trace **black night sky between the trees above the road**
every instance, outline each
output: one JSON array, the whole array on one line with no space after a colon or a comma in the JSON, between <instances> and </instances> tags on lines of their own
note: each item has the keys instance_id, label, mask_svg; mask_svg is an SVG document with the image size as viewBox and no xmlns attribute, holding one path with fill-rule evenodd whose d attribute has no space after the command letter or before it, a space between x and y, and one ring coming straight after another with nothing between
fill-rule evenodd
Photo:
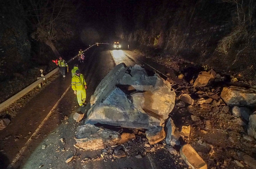
<instances>
[{"instance_id":1,"label":"black night sky between the trees above the road","mask_svg":"<svg viewBox=\"0 0 256 169\"><path fill-rule=\"evenodd\" d=\"M73 4L76 7L76 17L73 22L78 25L76 28L82 27L76 30L80 36L83 37L85 33L94 31L98 33L102 42L108 42L117 39L115 30L118 23L128 30L132 29L133 8L138 1L75 1Z\"/></svg>"}]
</instances>

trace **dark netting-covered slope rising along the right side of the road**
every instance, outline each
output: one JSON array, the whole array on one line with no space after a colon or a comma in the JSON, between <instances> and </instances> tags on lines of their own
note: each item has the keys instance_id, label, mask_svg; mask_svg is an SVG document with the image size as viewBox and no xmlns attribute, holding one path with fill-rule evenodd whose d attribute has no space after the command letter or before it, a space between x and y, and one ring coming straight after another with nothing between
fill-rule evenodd
<instances>
[{"instance_id":1,"label":"dark netting-covered slope rising along the right side of the road","mask_svg":"<svg viewBox=\"0 0 256 169\"><path fill-rule=\"evenodd\" d=\"M255 6L255 0L142 2L128 39L256 85Z\"/></svg>"}]
</instances>

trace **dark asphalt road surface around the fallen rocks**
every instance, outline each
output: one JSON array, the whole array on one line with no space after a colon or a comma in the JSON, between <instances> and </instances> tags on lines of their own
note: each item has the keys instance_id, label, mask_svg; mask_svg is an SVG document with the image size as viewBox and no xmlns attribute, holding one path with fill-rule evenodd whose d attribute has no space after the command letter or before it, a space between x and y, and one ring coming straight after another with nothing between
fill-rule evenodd
<instances>
[{"instance_id":1,"label":"dark asphalt road surface around the fallen rocks","mask_svg":"<svg viewBox=\"0 0 256 169\"><path fill-rule=\"evenodd\" d=\"M172 70L150 63L145 58L128 50L113 50L107 46L99 46L86 51L85 63L79 64L82 74L87 81L87 99L95 91L97 85L106 74L119 63L127 66L143 64L154 70L162 77ZM69 64L69 67L77 62ZM148 63L148 65L147 65ZM156 69L157 68L157 69ZM86 164L81 163L84 158L100 156L101 150L84 151L76 149L75 131L82 122L75 122L73 114L77 111L85 112L89 104L80 108L73 90L71 89L71 72L66 79L61 75L49 86L38 93L16 115L5 129L0 131L1 168L180 168L166 150L147 154L142 159L135 157L116 159L115 161L99 160ZM61 138L64 142L61 142ZM45 145L45 149L42 147ZM76 155L73 162L66 164L68 157Z\"/></svg>"}]
</instances>

